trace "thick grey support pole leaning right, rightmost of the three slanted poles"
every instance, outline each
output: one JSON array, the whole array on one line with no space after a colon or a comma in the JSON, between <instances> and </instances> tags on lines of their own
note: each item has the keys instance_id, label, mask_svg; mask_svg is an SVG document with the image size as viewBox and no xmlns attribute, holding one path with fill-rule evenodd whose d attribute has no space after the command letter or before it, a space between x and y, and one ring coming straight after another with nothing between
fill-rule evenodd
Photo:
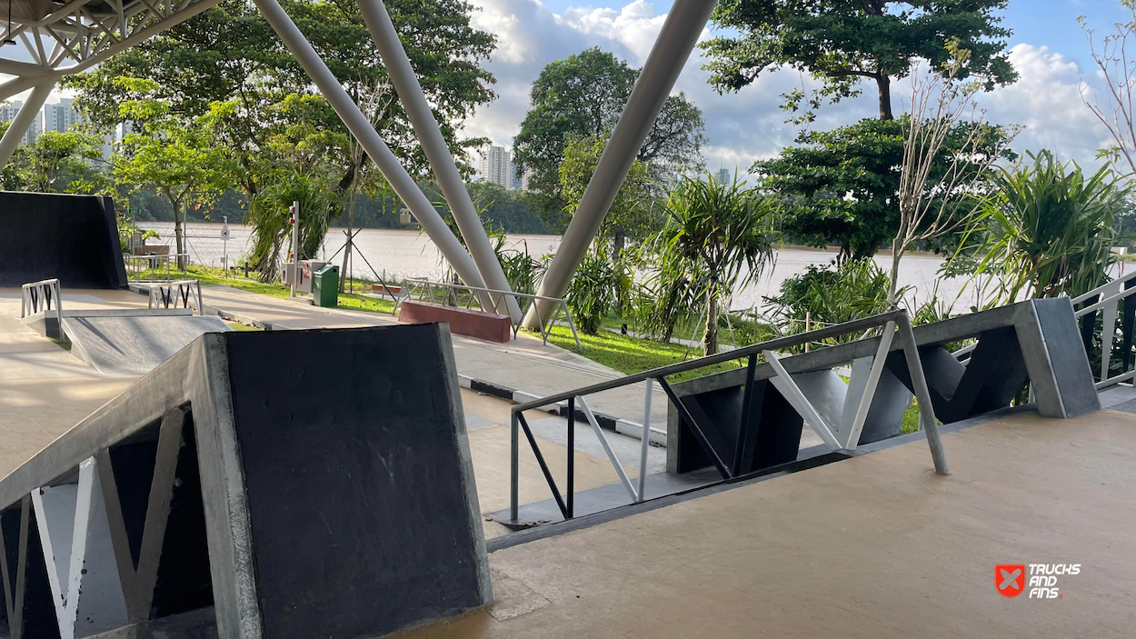
<instances>
[{"instance_id":1,"label":"thick grey support pole leaning right, rightmost of the three slanted poles","mask_svg":"<svg viewBox=\"0 0 1136 639\"><path fill-rule=\"evenodd\" d=\"M662 31L643 65L643 73L635 81L632 97L603 149L579 207L573 214L560 248L541 281L538 294L562 298L568 291L568 284L584 260L587 247L600 231L640 147L654 126L659 111L717 3L717 0L675 0L671 5ZM537 307L541 315L552 317L552 305L548 300L534 300L525 315L525 326L540 327Z\"/></svg>"}]
</instances>

